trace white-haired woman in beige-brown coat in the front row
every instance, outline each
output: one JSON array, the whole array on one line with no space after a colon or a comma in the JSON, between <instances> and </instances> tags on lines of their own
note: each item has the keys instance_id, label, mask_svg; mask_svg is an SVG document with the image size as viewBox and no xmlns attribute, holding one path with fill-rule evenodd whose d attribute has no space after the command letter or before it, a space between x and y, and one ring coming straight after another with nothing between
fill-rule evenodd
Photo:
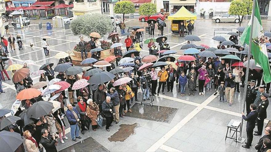
<instances>
[{"instance_id":1,"label":"white-haired woman in beige-brown coat in the front row","mask_svg":"<svg viewBox=\"0 0 271 152\"><path fill-rule=\"evenodd\" d=\"M99 107L93 102L92 99L87 100L87 116L91 119L92 130L96 131L98 125L96 122L97 116L99 115Z\"/></svg>"}]
</instances>

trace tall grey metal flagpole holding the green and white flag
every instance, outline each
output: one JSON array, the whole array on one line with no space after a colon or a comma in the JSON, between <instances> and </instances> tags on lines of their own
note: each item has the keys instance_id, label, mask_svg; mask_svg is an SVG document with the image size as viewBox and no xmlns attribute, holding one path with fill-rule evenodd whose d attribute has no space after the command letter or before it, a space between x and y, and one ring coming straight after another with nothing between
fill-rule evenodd
<instances>
[{"instance_id":1,"label":"tall grey metal flagpole holding the green and white flag","mask_svg":"<svg viewBox=\"0 0 271 152\"><path fill-rule=\"evenodd\" d=\"M246 67L246 75L245 75L245 88L244 88L244 95L243 95L243 112L245 113L245 98L247 95L247 88L248 88L248 80L249 80L249 62L250 62L250 53L251 53L251 43L252 43L252 34L253 34L253 25L254 25L254 16L255 16L255 5L256 0L253 0L253 6L252 6L252 14L251 14L251 28L250 28L250 34L249 34L249 52L248 52L248 63ZM259 83L259 82L258 82ZM245 141L245 138L242 138L242 129L243 129L243 122L244 119L242 117L241 126L240 126L240 137L238 138L238 142L243 143Z\"/></svg>"}]
</instances>

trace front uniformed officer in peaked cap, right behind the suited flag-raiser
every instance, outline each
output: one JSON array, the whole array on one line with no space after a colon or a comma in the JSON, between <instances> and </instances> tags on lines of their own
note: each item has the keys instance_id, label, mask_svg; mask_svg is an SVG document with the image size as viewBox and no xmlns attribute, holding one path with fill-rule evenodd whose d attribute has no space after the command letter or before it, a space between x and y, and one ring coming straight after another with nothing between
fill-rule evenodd
<instances>
[{"instance_id":1,"label":"front uniformed officer in peaked cap, right behind the suited flag-raiser","mask_svg":"<svg viewBox=\"0 0 271 152\"><path fill-rule=\"evenodd\" d=\"M258 108L257 108L257 111L259 112L258 119L257 119L258 131L255 131L255 133L254 133L255 136L259 136L262 133L263 126L264 126L264 120L267 117L266 109L269 104L268 97L269 97L269 94L267 94L267 93L261 94L261 102L259 103Z\"/></svg>"}]
</instances>

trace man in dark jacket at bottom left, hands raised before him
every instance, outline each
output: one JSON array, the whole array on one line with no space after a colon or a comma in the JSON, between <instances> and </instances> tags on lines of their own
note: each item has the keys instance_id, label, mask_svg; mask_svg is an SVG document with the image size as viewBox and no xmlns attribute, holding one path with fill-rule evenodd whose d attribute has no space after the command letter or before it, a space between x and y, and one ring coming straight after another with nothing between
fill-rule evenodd
<instances>
[{"instance_id":1,"label":"man in dark jacket at bottom left, hands raised before him","mask_svg":"<svg viewBox=\"0 0 271 152\"><path fill-rule=\"evenodd\" d=\"M48 152L49 151L50 152L57 152L56 147L55 147L57 134L53 134L52 137L48 136L49 133L48 133L47 129L42 129L41 134L42 134L42 137L41 137L40 143L45 148L45 150Z\"/></svg>"}]
</instances>

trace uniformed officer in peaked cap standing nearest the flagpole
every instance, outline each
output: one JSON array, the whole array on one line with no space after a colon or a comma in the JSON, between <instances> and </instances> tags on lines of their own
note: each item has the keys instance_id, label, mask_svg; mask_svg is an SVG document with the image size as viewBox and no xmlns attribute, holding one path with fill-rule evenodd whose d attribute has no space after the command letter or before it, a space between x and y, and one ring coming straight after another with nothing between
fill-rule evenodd
<instances>
[{"instance_id":1,"label":"uniformed officer in peaked cap standing nearest the flagpole","mask_svg":"<svg viewBox=\"0 0 271 152\"><path fill-rule=\"evenodd\" d=\"M247 89L247 95L246 95L246 111L247 111L247 115L250 112L250 104L254 102L254 100L256 99L256 93L253 93L254 89L255 89L255 80L251 80L250 81L250 86L248 86Z\"/></svg>"}]
</instances>

